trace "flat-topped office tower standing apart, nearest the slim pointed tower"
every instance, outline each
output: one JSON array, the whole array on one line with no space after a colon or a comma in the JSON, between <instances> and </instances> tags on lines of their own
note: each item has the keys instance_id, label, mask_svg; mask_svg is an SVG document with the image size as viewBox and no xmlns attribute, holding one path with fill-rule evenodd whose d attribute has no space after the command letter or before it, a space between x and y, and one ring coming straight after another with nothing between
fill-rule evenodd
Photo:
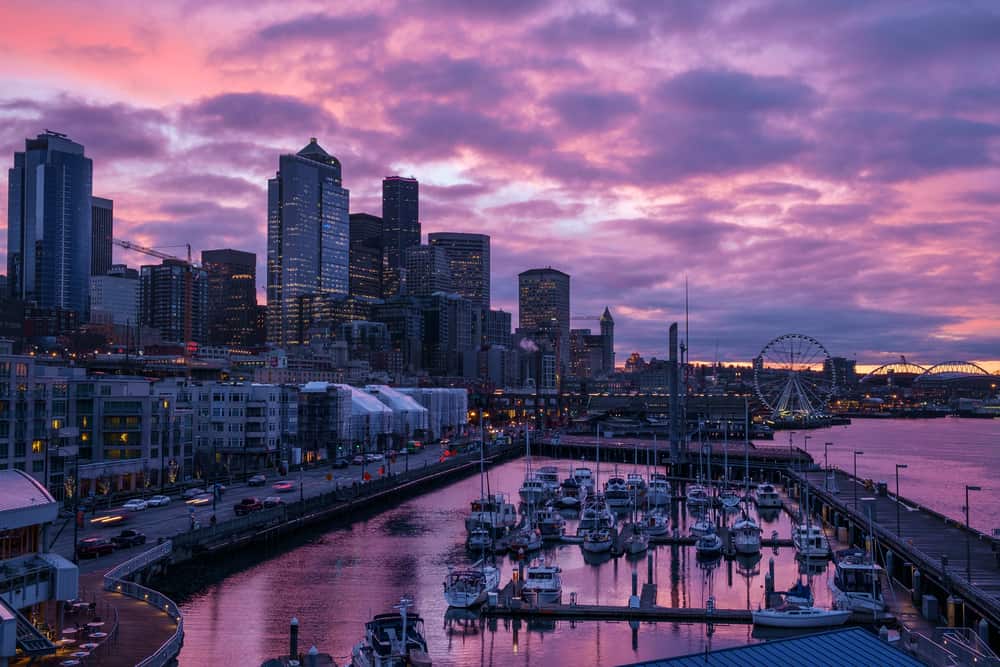
<instances>
[{"instance_id":1,"label":"flat-topped office tower standing apart, nearest the slim pointed tower","mask_svg":"<svg viewBox=\"0 0 1000 667\"><path fill-rule=\"evenodd\" d=\"M548 338L563 368L569 365L569 275L529 269L517 276L518 326L529 336Z\"/></svg>"}]
</instances>

